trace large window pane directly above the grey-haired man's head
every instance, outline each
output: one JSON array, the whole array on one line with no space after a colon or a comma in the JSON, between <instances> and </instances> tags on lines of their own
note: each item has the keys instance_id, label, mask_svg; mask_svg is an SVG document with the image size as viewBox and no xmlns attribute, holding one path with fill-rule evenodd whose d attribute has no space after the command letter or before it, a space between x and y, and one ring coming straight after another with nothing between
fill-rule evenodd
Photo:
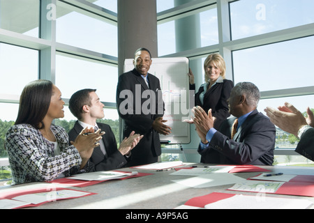
<instances>
[{"instance_id":1,"label":"large window pane directly above the grey-haired man's head","mask_svg":"<svg viewBox=\"0 0 314 223\"><path fill-rule=\"evenodd\" d=\"M233 52L234 84L253 82L260 91L314 86L314 37Z\"/></svg>"}]
</instances>

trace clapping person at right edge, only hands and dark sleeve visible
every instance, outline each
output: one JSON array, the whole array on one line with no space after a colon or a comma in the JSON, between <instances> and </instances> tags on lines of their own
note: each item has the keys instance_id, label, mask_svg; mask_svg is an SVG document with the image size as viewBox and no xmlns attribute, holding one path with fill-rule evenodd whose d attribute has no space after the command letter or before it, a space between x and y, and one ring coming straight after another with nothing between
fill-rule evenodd
<instances>
[{"instance_id":1,"label":"clapping person at right edge, only hands and dark sleeve visible","mask_svg":"<svg viewBox=\"0 0 314 223\"><path fill-rule=\"evenodd\" d=\"M314 161L314 115L311 109L308 107L306 111L307 118L287 102L284 106L278 107L278 110L267 107L264 111L272 123L285 132L299 137L300 141L295 151Z\"/></svg>"}]
</instances>

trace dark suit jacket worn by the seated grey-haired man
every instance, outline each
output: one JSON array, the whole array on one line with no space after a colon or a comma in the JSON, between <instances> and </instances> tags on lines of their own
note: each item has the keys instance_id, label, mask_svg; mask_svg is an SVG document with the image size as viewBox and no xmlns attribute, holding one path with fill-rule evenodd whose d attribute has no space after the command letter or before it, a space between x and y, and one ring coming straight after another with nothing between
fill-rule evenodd
<instances>
[{"instance_id":1,"label":"dark suit jacket worn by the seated grey-haired man","mask_svg":"<svg viewBox=\"0 0 314 223\"><path fill-rule=\"evenodd\" d=\"M276 128L267 116L254 110L231 137L235 118L225 120L209 142L209 148L198 149L201 162L214 164L272 165Z\"/></svg>"}]
</instances>

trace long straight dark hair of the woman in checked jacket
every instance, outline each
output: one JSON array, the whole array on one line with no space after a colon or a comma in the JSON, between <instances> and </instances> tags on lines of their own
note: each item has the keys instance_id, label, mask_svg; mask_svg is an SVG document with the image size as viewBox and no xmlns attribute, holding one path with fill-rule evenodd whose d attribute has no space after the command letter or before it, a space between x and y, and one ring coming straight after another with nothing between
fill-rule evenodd
<instances>
[{"instance_id":1,"label":"long straight dark hair of the woman in checked jacket","mask_svg":"<svg viewBox=\"0 0 314 223\"><path fill-rule=\"evenodd\" d=\"M24 86L15 125L24 123L38 130L43 129L43 118L48 112L51 97L52 82L46 79L38 79Z\"/></svg>"}]
</instances>

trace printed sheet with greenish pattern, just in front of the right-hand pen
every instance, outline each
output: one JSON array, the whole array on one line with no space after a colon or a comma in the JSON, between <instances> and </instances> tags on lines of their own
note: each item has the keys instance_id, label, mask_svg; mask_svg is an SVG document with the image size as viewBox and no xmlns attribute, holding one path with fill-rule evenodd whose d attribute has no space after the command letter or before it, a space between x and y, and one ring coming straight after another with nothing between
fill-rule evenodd
<instances>
[{"instance_id":1,"label":"printed sheet with greenish pattern, just in front of the right-hand pen","mask_svg":"<svg viewBox=\"0 0 314 223\"><path fill-rule=\"evenodd\" d=\"M245 180L229 188L229 190L239 190L247 192L276 193L285 182Z\"/></svg>"}]
</instances>

